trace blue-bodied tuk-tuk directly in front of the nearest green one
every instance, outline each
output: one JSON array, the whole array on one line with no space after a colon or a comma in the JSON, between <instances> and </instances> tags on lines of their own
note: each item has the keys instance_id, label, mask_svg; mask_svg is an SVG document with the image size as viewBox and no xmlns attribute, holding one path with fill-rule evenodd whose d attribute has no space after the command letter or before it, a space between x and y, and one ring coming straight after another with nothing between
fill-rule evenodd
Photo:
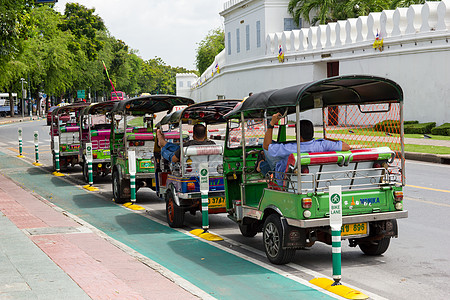
<instances>
[{"instance_id":1,"label":"blue-bodied tuk-tuk directly in front of the nearest green one","mask_svg":"<svg viewBox=\"0 0 450 300\"><path fill-rule=\"evenodd\" d=\"M226 124L224 115L238 103L240 100L196 103L167 115L157 125L161 129L166 125L164 132L166 139L175 138L180 143L179 162L168 162L161 157L157 170L157 191L160 197L166 200L166 217L170 227L182 227L185 212L194 215L202 210L200 190L202 164L208 165L208 212L211 214L226 212L222 159ZM185 139L179 137L192 132L196 124L207 126L207 138L214 144L184 146ZM174 134L176 128L179 131Z\"/></svg>"}]
</instances>

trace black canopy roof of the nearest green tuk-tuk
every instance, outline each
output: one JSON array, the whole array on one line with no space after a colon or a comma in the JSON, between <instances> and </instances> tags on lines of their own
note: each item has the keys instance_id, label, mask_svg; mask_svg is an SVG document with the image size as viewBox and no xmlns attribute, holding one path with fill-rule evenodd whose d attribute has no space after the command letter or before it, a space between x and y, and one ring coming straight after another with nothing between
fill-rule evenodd
<instances>
[{"instance_id":1,"label":"black canopy roof of the nearest green tuk-tuk","mask_svg":"<svg viewBox=\"0 0 450 300\"><path fill-rule=\"evenodd\" d=\"M300 111L305 111L334 105L400 101L403 101L403 91L392 80L369 75L345 75L254 94L226 118L239 117L241 112L246 117L263 117L266 109L268 116L284 113L286 108L291 114L295 113L298 103Z\"/></svg>"}]
</instances>

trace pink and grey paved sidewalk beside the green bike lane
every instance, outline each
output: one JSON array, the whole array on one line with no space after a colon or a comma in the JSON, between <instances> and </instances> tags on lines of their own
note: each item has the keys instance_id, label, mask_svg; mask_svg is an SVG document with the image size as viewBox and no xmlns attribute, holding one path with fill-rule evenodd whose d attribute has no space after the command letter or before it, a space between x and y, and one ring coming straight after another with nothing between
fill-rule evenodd
<instances>
[{"instance_id":1,"label":"pink and grey paved sidewalk beside the green bike lane","mask_svg":"<svg viewBox=\"0 0 450 300\"><path fill-rule=\"evenodd\" d=\"M0 299L198 299L3 175L0 226Z\"/></svg>"}]
</instances>

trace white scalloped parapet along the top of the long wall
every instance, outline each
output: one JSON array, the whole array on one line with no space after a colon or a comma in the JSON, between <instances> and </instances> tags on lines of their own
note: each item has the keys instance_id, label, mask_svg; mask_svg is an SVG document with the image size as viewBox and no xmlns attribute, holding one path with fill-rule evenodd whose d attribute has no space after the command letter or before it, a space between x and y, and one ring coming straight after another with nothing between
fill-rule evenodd
<instances>
[{"instance_id":1,"label":"white scalloped parapet along the top of the long wall","mask_svg":"<svg viewBox=\"0 0 450 300\"><path fill-rule=\"evenodd\" d=\"M246 0L229 0L224 9ZM450 29L450 0L425 2L407 8L384 10L369 13L348 20L312 26L300 30L272 32L266 35L265 55L278 55L281 46L285 55L306 53L311 51L331 50L333 48L360 46L364 42L373 43L379 34L384 43L389 38L411 39L411 35L442 34ZM415 38L415 36L414 36ZM387 40L386 40L387 39ZM225 66L225 51L216 57L220 66ZM214 72L216 62L200 77L206 81ZM198 86L198 85L197 85Z\"/></svg>"}]
</instances>

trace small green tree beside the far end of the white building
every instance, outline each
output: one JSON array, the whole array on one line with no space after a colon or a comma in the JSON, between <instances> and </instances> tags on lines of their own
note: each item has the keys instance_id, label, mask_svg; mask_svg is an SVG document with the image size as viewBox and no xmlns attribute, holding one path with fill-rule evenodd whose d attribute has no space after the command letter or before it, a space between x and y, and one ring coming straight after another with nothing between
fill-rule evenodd
<instances>
[{"instance_id":1,"label":"small green tree beside the far end of the white building","mask_svg":"<svg viewBox=\"0 0 450 300\"><path fill-rule=\"evenodd\" d=\"M211 30L208 35L198 43L196 67L200 74L214 62L217 54L225 48L225 34L222 29Z\"/></svg>"}]
</instances>

